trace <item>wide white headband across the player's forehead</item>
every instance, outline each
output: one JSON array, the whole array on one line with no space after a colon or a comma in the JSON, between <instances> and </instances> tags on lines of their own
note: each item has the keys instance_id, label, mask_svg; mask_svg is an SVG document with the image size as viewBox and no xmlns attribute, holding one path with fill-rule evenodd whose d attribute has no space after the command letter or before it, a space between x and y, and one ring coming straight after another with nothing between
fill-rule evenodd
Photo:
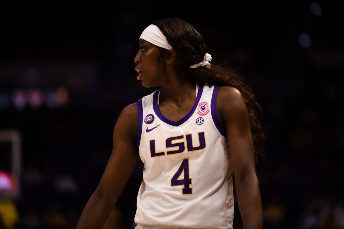
<instances>
[{"instance_id":1,"label":"wide white headband across the player's forehead","mask_svg":"<svg viewBox=\"0 0 344 229\"><path fill-rule=\"evenodd\" d=\"M158 26L149 25L143 30L139 39L144 39L156 46L171 50L172 46L168 43L165 35L161 32Z\"/></svg>"}]
</instances>

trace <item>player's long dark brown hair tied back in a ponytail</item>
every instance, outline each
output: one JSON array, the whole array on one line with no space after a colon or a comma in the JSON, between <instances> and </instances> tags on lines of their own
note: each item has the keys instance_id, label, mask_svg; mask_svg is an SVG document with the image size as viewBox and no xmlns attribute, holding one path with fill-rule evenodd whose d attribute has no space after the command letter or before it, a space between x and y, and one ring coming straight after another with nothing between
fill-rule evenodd
<instances>
[{"instance_id":1,"label":"player's long dark brown hair tied back in a ponytail","mask_svg":"<svg viewBox=\"0 0 344 229\"><path fill-rule=\"evenodd\" d=\"M152 22L152 24L160 28L177 55L183 54L178 55L176 60L178 61L179 67L185 69L189 76L197 81L207 82L208 84L234 87L243 95L248 110L251 135L254 144L255 165L257 168L260 159L265 159L265 135L260 122L262 108L258 104L250 87L245 84L243 76L241 76L237 70L229 67L226 63L212 63L210 68L202 66L193 69L189 68L189 66L203 61L205 53L208 52L204 38L189 22L175 17L160 19ZM158 61L160 62L163 60L168 50L161 47L158 48L160 49L158 56Z\"/></svg>"}]
</instances>

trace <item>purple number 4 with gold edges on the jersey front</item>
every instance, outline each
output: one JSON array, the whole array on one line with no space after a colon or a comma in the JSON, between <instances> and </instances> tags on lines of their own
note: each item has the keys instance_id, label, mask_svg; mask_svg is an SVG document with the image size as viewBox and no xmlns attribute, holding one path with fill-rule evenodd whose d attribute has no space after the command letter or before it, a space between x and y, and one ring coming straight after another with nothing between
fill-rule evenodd
<instances>
[{"instance_id":1,"label":"purple number 4 with gold edges on the jersey front","mask_svg":"<svg viewBox=\"0 0 344 229\"><path fill-rule=\"evenodd\" d=\"M184 171L184 179L179 179ZM190 185L192 184L191 178L189 178L189 158L184 159L182 164L180 165L178 171L173 175L171 179L171 186L179 186L184 185L182 188L183 195L192 194L192 188Z\"/></svg>"}]
</instances>

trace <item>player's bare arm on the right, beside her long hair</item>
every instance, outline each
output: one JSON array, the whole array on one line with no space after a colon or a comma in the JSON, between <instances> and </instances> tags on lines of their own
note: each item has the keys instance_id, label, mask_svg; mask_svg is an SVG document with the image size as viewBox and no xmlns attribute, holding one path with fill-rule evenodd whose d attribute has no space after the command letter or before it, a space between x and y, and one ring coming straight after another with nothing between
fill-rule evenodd
<instances>
[{"instance_id":1,"label":"player's bare arm on the right, beside her long hair","mask_svg":"<svg viewBox=\"0 0 344 229\"><path fill-rule=\"evenodd\" d=\"M239 210L244 228L260 229L263 224L262 205L255 170L254 145L245 100L236 88L221 86L216 102L219 104L219 116L226 128Z\"/></svg>"}]
</instances>

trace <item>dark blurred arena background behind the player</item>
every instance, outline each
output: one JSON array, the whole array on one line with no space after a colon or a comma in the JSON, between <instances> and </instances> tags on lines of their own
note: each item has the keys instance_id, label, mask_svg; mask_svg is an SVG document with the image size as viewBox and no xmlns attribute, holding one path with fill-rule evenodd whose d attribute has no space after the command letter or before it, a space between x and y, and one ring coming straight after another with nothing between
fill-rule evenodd
<instances>
[{"instance_id":1,"label":"dark blurred arena background behind the player","mask_svg":"<svg viewBox=\"0 0 344 229\"><path fill-rule=\"evenodd\" d=\"M136 79L139 36L173 16L205 37L212 63L239 69L264 110L264 228L344 228L343 10L339 1L3 6L0 228L76 227L119 113L158 89ZM138 161L103 228L134 227L141 180ZM234 219L243 228L238 206Z\"/></svg>"}]
</instances>

